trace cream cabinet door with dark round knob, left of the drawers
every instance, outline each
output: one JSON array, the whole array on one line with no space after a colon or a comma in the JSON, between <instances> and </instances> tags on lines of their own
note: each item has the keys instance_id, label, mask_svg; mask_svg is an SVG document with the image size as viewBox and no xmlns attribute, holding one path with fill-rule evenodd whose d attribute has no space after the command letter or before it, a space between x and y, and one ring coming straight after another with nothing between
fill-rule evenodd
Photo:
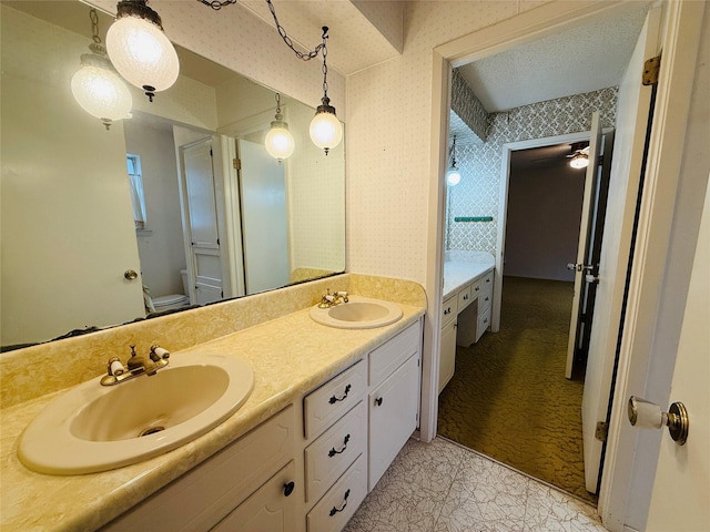
<instances>
[{"instance_id":1,"label":"cream cabinet door with dark round knob, left of the drawers","mask_svg":"<svg viewBox=\"0 0 710 532\"><path fill-rule=\"evenodd\" d=\"M295 477L296 467L290 462L211 532L295 532L297 500L303 497Z\"/></svg>"}]
</instances>

